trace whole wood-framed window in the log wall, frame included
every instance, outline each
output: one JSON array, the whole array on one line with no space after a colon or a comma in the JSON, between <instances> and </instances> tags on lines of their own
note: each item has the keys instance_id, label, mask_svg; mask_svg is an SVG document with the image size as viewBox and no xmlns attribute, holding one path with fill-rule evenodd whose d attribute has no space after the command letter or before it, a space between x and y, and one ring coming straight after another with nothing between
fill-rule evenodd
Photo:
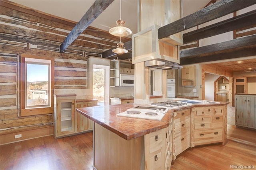
<instances>
[{"instance_id":1,"label":"whole wood-framed window in the log wall, frame included","mask_svg":"<svg viewBox=\"0 0 256 170\"><path fill-rule=\"evenodd\" d=\"M53 113L54 58L20 57L20 115Z\"/></svg>"}]
</instances>

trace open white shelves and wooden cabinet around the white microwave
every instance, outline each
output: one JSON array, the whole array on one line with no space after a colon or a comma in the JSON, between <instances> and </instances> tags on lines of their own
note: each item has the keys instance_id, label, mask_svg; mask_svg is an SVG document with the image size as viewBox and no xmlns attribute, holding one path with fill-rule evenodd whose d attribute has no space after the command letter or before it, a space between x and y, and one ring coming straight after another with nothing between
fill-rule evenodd
<instances>
[{"instance_id":1,"label":"open white shelves and wooden cabinet around the white microwave","mask_svg":"<svg viewBox=\"0 0 256 170\"><path fill-rule=\"evenodd\" d=\"M110 61L110 86L120 86L120 74L134 75L134 64L126 60L113 59Z\"/></svg>"}]
</instances>

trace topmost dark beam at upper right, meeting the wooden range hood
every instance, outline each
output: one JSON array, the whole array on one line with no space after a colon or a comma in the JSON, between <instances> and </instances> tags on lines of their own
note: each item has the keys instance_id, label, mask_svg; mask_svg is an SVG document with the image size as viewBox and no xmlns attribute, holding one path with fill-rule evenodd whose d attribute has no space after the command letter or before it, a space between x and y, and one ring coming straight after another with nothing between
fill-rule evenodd
<instances>
[{"instance_id":1,"label":"topmost dark beam at upper right, meeting the wooden range hood","mask_svg":"<svg viewBox=\"0 0 256 170\"><path fill-rule=\"evenodd\" d=\"M221 0L180 20L162 26L158 30L158 38L166 38L254 4L256 4L256 0Z\"/></svg>"}]
</instances>

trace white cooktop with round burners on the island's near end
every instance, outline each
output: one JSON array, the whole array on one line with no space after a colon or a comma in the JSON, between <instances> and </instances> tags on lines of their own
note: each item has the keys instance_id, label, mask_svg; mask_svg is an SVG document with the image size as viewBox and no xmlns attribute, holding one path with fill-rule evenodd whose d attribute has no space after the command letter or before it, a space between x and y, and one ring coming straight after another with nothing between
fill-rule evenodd
<instances>
[{"instance_id":1,"label":"white cooktop with round burners on the island's near end","mask_svg":"<svg viewBox=\"0 0 256 170\"><path fill-rule=\"evenodd\" d=\"M161 121L167 111L168 108L138 106L127 109L125 112L118 113L117 116Z\"/></svg>"}]
</instances>

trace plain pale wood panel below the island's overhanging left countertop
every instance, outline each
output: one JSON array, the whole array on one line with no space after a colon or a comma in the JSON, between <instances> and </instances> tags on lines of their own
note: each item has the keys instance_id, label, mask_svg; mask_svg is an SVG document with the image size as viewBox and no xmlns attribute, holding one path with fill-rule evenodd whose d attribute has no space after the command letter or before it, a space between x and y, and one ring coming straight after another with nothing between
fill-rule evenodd
<instances>
[{"instance_id":1,"label":"plain pale wood panel below the island's overhanging left countertop","mask_svg":"<svg viewBox=\"0 0 256 170\"><path fill-rule=\"evenodd\" d=\"M144 137L125 140L117 134L94 123L94 169L140 170L144 164Z\"/></svg>"}]
</instances>

